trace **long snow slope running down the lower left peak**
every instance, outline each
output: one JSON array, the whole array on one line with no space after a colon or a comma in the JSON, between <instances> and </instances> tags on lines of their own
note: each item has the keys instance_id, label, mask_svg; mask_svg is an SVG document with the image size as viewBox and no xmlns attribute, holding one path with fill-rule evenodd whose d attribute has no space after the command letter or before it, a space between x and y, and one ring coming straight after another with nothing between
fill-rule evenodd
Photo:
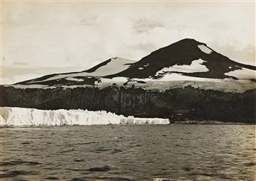
<instances>
[{"instance_id":1,"label":"long snow slope running down the lower left peak","mask_svg":"<svg viewBox=\"0 0 256 181\"><path fill-rule=\"evenodd\" d=\"M134 63L136 61L130 60L130 59L122 59L119 57L112 58L110 62L108 62L107 65L102 65L102 67L97 68L95 71L88 73L88 72L78 72L78 73L65 73L65 74L59 74L56 76L52 76L48 79L42 80L42 81L33 81L30 83L37 83L37 82L46 82L50 80L56 80L56 79L64 79L64 78L71 78L76 76L109 76L115 73L119 73L127 68L129 68L131 63Z\"/></svg>"}]
</instances>

